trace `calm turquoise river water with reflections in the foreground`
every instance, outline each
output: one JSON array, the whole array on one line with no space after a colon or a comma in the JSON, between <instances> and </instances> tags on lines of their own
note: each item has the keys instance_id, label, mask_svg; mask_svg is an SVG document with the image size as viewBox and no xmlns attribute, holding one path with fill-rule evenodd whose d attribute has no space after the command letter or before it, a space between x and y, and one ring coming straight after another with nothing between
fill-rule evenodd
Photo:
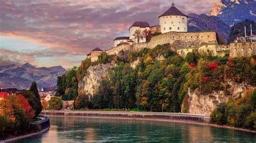
<instances>
[{"instance_id":1,"label":"calm turquoise river water with reflections in the foreground","mask_svg":"<svg viewBox=\"0 0 256 143\"><path fill-rule=\"evenodd\" d=\"M255 142L256 134L207 125L132 119L50 117L50 130L16 142Z\"/></svg>"}]
</instances>

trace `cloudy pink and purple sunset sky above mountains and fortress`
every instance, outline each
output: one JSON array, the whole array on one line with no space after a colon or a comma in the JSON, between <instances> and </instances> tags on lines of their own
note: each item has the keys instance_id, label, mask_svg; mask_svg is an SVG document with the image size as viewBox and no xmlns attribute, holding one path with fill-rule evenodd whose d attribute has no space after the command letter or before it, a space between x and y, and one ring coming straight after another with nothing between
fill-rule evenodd
<instances>
[{"instance_id":1,"label":"cloudy pink and purple sunset sky above mountains and fortress","mask_svg":"<svg viewBox=\"0 0 256 143\"><path fill-rule=\"evenodd\" d=\"M219 0L173 0L188 13L208 13ZM80 65L93 48L109 49L136 21L158 25L170 0L1 0L0 65Z\"/></svg>"}]
</instances>

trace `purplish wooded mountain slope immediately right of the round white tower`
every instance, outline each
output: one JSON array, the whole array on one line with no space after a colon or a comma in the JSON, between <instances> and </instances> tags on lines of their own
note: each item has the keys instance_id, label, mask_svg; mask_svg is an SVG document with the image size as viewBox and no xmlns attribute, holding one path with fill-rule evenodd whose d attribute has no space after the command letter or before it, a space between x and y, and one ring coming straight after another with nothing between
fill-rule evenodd
<instances>
[{"instance_id":1,"label":"purplish wooded mountain slope immediately right of the round white tower","mask_svg":"<svg viewBox=\"0 0 256 143\"><path fill-rule=\"evenodd\" d=\"M230 27L219 17L207 16L205 14L189 14L188 15L188 31L216 31L219 37L228 38Z\"/></svg>"}]
</instances>

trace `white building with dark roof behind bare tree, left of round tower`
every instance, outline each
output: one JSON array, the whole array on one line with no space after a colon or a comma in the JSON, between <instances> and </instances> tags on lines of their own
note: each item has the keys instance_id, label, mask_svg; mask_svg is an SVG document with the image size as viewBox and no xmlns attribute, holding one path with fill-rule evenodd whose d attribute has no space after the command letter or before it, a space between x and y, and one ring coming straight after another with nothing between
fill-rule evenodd
<instances>
[{"instance_id":1,"label":"white building with dark roof behind bare tree, left of round tower","mask_svg":"<svg viewBox=\"0 0 256 143\"><path fill-rule=\"evenodd\" d=\"M136 38L136 35L134 34L134 32L136 30L140 30L141 35L143 35L143 31L144 30L150 30L150 24L147 22L134 22L132 24L132 26L129 28L129 38L132 39L134 42L146 42L146 37L142 37L138 40L138 38Z\"/></svg>"}]
</instances>

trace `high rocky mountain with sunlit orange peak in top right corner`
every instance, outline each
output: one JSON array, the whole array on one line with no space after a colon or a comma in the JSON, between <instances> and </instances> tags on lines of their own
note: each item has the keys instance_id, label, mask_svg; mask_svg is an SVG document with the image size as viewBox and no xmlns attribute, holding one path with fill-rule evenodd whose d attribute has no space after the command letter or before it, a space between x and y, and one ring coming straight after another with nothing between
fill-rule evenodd
<instances>
[{"instance_id":1,"label":"high rocky mountain with sunlit orange peak in top right corner","mask_svg":"<svg viewBox=\"0 0 256 143\"><path fill-rule=\"evenodd\" d=\"M227 25L239 23L245 19L256 21L256 1L221 0L213 6L208 16L217 16Z\"/></svg>"}]
</instances>

